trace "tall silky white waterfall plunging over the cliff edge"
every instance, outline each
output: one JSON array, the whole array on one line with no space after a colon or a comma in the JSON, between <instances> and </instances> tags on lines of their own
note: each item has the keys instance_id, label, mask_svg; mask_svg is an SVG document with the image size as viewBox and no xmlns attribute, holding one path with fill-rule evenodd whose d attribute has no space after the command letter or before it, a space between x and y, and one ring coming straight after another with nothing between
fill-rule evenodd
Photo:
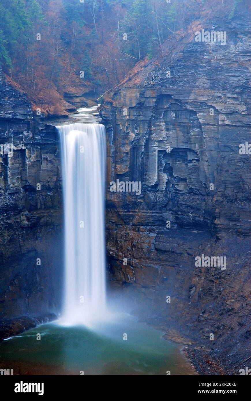
<instances>
[{"instance_id":1,"label":"tall silky white waterfall plunging over the cliff edge","mask_svg":"<svg viewBox=\"0 0 251 401\"><path fill-rule=\"evenodd\" d=\"M105 315L105 127L58 126L65 229L63 323Z\"/></svg>"}]
</instances>

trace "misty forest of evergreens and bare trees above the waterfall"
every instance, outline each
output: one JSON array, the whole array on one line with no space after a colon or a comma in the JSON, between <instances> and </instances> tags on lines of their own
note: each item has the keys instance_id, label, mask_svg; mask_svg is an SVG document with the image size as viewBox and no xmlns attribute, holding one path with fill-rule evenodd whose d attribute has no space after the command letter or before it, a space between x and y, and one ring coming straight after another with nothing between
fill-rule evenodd
<instances>
[{"instance_id":1,"label":"misty forest of evergreens and bare trees above the waterfall","mask_svg":"<svg viewBox=\"0 0 251 401\"><path fill-rule=\"evenodd\" d=\"M232 15L239 1L232 0ZM161 53L166 38L196 18L198 6L213 10L222 2L2 0L0 65L49 113L72 88L99 97L139 60Z\"/></svg>"}]
</instances>

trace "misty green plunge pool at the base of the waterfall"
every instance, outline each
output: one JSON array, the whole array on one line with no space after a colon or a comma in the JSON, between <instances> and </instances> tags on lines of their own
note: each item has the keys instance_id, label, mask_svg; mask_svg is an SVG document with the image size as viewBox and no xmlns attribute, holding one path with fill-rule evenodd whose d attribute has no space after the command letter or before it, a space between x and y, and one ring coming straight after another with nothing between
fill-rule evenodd
<instances>
[{"instance_id":1,"label":"misty green plunge pool at the base of the waterfall","mask_svg":"<svg viewBox=\"0 0 251 401\"><path fill-rule=\"evenodd\" d=\"M0 367L13 369L14 375L194 374L180 346L162 335L130 316L95 331L50 323L2 342Z\"/></svg>"}]
</instances>

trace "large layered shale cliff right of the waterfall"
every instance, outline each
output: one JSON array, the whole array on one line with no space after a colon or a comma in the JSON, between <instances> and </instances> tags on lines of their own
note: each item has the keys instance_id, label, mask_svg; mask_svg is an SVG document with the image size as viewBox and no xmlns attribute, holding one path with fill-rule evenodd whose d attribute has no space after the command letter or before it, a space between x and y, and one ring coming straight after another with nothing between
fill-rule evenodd
<instances>
[{"instance_id":1,"label":"large layered shale cliff right of the waterfall","mask_svg":"<svg viewBox=\"0 0 251 401\"><path fill-rule=\"evenodd\" d=\"M111 280L141 318L196 344L188 352L204 374L250 365L251 155L239 153L251 142L249 21L193 22L101 111ZM225 31L226 44L196 42L201 29ZM141 181L142 193L111 192L117 179ZM226 269L196 266L202 254L226 257Z\"/></svg>"}]
</instances>

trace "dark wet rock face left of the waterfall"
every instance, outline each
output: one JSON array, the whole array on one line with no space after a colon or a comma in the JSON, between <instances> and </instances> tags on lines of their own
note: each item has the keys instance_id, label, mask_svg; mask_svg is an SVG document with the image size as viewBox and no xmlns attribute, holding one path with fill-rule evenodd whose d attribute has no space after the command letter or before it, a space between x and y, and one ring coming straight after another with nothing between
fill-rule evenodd
<instances>
[{"instance_id":1,"label":"dark wet rock face left of the waterfall","mask_svg":"<svg viewBox=\"0 0 251 401\"><path fill-rule=\"evenodd\" d=\"M55 127L0 73L0 316L57 312L62 196Z\"/></svg>"}]
</instances>

